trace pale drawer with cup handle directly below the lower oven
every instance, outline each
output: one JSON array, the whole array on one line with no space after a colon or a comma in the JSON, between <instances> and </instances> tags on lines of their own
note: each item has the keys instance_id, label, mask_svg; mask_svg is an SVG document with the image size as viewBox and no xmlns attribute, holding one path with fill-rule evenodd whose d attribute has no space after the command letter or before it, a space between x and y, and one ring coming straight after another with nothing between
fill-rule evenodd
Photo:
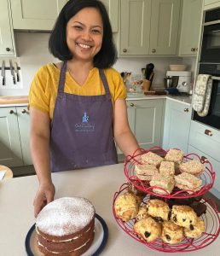
<instances>
[{"instance_id":1,"label":"pale drawer with cup handle directly below the lower oven","mask_svg":"<svg viewBox=\"0 0 220 256\"><path fill-rule=\"evenodd\" d=\"M220 161L220 131L196 121L191 121L189 144L217 161Z\"/></svg>"}]
</instances>

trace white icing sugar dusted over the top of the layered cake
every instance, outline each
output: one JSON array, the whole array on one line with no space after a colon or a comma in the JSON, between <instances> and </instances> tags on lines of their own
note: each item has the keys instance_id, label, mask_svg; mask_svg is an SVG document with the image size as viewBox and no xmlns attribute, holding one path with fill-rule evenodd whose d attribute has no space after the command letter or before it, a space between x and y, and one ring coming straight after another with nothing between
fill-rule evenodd
<instances>
[{"instance_id":1,"label":"white icing sugar dusted over the top of the layered cake","mask_svg":"<svg viewBox=\"0 0 220 256\"><path fill-rule=\"evenodd\" d=\"M52 236L65 236L77 232L90 223L95 208L83 197L62 197L50 202L39 212L36 225Z\"/></svg>"}]
</instances>

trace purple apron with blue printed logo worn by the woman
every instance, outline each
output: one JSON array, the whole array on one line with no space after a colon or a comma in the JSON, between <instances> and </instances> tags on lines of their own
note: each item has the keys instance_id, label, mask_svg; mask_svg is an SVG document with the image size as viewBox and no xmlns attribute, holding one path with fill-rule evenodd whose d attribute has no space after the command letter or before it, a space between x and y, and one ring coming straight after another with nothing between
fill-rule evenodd
<instances>
[{"instance_id":1,"label":"purple apron with blue printed logo worn by the woman","mask_svg":"<svg viewBox=\"0 0 220 256\"><path fill-rule=\"evenodd\" d=\"M113 103L103 70L106 95L78 96L64 92L67 62L61 75L51 122L52 172L118 163L113 139Z\"/></svg>"}]
</instances>

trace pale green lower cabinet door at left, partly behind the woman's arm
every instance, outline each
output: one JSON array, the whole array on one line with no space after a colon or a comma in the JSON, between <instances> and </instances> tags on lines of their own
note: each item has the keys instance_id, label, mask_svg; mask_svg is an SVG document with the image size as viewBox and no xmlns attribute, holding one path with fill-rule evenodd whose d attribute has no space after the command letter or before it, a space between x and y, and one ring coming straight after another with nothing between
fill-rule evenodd
<instances>
[{"instance_id":1,"label":"pale green lower cabinet door at left, partly behind the woman's arm","mask_svg":"<svg viewBox=\"0 0 220 256\"><path fill-rule=\"evenodd\" d=\"M30 150L30 115L26 107L16 107L20 131L20 144L25 166L32 165Z\"/></svg>"}]
</instances>

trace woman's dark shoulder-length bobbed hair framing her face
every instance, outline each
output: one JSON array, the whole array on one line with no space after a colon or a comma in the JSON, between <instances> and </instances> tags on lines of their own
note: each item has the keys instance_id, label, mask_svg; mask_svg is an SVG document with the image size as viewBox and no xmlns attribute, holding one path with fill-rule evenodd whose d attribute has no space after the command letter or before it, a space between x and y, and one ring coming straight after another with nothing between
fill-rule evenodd
<instances>
[{"instance_id":1,"label":"woman's dark shoulder-length bobbed hair framing her face","mask_svg":"<svg viewBox=\"0 0 220 256\"><path fill-rule=\"evenodd\" d=\"M94 57L94 66L98 68L112 67L117 60L117 51L113 43L113 31L107 15L107 9L99 0L69 0L61 9L54 29L49 37L49 51L61 61L72 59L72 53L67 46L67 22L78 11L86 7L94 7L100 11L103 22L103 38L100 51ZM74 56L73 56L74 57Z\"/></svg>"}]
</instances>

